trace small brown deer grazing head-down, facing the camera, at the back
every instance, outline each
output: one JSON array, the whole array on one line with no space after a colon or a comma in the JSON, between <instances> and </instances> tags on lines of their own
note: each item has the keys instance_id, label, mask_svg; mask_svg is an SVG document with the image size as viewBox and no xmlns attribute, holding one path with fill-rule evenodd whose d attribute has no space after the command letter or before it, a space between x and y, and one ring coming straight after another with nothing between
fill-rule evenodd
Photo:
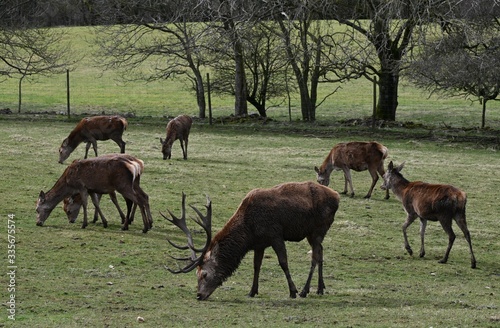
<instances>
[{"instance_id":1,"label":"small brown deer grazing head-down, facing the camera, at the back","mask_svg":"<svg viewBox=\"0 0 500 328\"><path fill-rule=\"evenodd\" d=\"M174 141L179 139L182 148L182 156L187 159L187 146L189 142L189 131L193 119L187 115L179 115L167 124L167 137L165 140L160 138L161 152L163 159L170 159L172 157L172 145Z\"/></svg>"}]
</instances>

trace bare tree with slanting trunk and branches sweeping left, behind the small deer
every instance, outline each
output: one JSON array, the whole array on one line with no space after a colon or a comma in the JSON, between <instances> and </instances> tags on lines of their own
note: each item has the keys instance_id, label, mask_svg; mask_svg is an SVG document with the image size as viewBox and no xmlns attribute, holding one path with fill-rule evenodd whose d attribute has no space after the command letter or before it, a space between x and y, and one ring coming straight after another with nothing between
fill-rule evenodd
<instances>
[{"instance_id":1,"label":"bare tree with slanting trunk and branches sweeping left, behind the small deer","mask_svg":"<svg viewBox=\"0 0 500 328\"><path fill-rule=\"evenodd\" d=\"M104 67L118 69L125 80L186 77L196 93L199 116L204 118L202 68L207 29L198 22L204 8L193 1L160 0L101 1L100 8L106 25L96 29Z\"/></svg>"}]
</instances>

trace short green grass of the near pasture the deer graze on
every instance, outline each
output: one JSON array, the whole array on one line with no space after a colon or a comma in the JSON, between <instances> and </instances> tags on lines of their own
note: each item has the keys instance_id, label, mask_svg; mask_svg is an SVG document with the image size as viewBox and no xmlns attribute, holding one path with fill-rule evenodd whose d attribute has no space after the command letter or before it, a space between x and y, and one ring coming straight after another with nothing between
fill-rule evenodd
<instances>
[{"instance_id":1,"label":"short green grass of the near pasture the deer graze on","mask_svg":"<svg viewBox=\"0 0 500 328\"><path fill-rule=\"evenodd\" d=\"M410 257L403 249L401 224L405 213L398 200L371 200L367 172L353 173L355 198L341 197L339 211L323 243L326 294L289 299L288 288L274 252L263 263L260 294L248 298L252 254L206 302L196 301L196 276L172 275L169 255L178 254L166 238L183 235L161 218L167 208L179 213L181 192L187 202L202 208L205 194L213 202L213 230L221 229L245 194L256 187L285 181L314 180L337 142L366 139L363 129L260 124L208 126L196 122L190 137L189 159L181 159L175 143L173 158L161 159L159 137L165 123L129 120L124 139L127 153L145 162L141 179L150 196L155 219L152 231L141 232L140 218L121 231L111 202L103 198L110 226L86 229L67 222L57 207L44 227L35 226L35 201L47 191L66 165L57 163L57 149L75 122L31 116L1 117L0 233L4 273L7 272L7 215L16 222L16 326L131 327L131 326L349 326L349 327L493 327L500 321L498 254L498 197L496 147L453 143L441 139L393 137L396 129L373 135L390 150L390 160L406 161L403 173L411 180L452 183L468 193L468 223L478 261L470 269L467 243L457 231L449 263L442 265L447 237L429 223L425 258ZM321 130L323 129L323 130ZM322 132L322 133L320 133ZM326 136L326 137L325 137ZM100 142L102 153L116 152L112 142ZM79 147L67 162L80 158ZM339 172L332 187L343 188ZM194 213L191 212L192 215ZM81 222L81 221L79 221ZM418 224L409 229L410 243L419 247ZM202 236L197 236L201 242ZM289 264L298 288L310 265L307 242L287 244ZM2 274L3 307L7 319L8 280ZM313 291L316 287L316 275ZM139 324L141 316L145 322Z\"/></svg>"}]
</instances>

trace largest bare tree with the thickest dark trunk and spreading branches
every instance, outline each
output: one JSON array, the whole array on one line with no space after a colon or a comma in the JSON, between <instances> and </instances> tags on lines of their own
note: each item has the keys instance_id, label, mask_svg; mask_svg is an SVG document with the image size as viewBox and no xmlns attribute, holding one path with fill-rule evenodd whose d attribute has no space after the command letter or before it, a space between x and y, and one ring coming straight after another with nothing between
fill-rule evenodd
<instances>
[{"instance_id":1,"label":"largest bare tree with the thickest dark trunk and spreading branches","mask_svg":"<svg viewBox=\"0 0 500 328\"><path fill-rule=\"evenodd\" d=\"M340 0L331 12L347 26L362 73L379 87L376 118L395 120L401 72L432 23L446 23L460 0ZM364 38L364 42L362 42Z\"/></svg>"}]
</instances>

